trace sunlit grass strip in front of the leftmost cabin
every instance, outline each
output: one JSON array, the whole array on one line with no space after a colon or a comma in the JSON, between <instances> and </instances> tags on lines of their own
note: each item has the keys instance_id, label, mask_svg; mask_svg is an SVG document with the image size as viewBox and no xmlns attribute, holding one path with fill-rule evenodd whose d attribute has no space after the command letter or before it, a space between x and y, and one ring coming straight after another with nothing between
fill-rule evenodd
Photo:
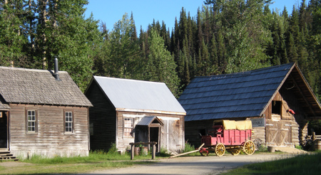
<instances>
[{"instance_id":1,"label":"sunlit grass strip in front of the leftmost cabin","mask_svg":"<svg viewBox=\"0 0 321 175\"><path fill-rule=\"evenodd\" d=\"M130 154L117 152L91 152L88 157L54 157L52 159L34 156L15 162L17 166L3 166L0 174L77 174L100 169L113 169L136 164L153 164L151 155L139 155L131 161ZM4 162L4 161L3 161ZM21 164L22 163L22 164Z\"/></svg>"}]
</instances>

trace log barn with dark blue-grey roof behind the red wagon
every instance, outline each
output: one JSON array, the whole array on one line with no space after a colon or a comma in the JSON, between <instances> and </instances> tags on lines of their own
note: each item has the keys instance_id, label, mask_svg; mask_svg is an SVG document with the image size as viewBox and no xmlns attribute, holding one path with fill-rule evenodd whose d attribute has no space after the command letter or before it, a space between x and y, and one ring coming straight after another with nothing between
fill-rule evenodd
<instances>
[{"instance_id":1,"label":"log barn with dark blue-grey roof behind the red wagon","mask_svg":"<svg viewBox=\"0 0 321 175\"><path fill-rule=\"evenodd\" d=\"M213 120L252 120L253 138L266 145L294 147L307 135L307 121L321 118L321 106L295 63L228 75L194 78L180 104L185 139L200 144Z\"/></svg>"}]
</instances>

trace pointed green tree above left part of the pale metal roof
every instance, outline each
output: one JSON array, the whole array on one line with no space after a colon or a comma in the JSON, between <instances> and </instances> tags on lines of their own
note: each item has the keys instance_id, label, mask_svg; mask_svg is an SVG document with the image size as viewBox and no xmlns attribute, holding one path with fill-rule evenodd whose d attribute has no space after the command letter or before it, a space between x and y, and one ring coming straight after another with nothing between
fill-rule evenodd
<instances>
[{"instance_id":1,"label":"pointed green tree above left part of the pale metal roof","mask_svg":"<svg viewBox=\"0 0 321 175\"><path fill-rule=\"evenodd\" d=\"M106 75L116 78L143 78L144 59L136 41L136 30L133 18L124 14L123 18L115 23L113 31L109 33L109 41L105 43ZM143 33L142 33L143 34ZM146 54L146 53L145 53Z\"/></svg>"}]
</instances>

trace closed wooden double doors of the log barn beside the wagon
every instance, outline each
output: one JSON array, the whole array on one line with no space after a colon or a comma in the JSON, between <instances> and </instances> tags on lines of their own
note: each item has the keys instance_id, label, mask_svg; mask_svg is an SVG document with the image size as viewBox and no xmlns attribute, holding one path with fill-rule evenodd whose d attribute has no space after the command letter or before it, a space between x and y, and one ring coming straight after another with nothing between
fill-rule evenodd
<instances>
[{"instance_id":1,"label":"closed wooden double doors of the log barn beside the wagon","mask_svg":"<svg viewBox=\"0 0 321 175\"><path fill-rule=\"evenodd\" d=\"M292 144L292 127L290 121L267 120L265 129L267 145L289 147Z\"/></svg>"}]
</instances>

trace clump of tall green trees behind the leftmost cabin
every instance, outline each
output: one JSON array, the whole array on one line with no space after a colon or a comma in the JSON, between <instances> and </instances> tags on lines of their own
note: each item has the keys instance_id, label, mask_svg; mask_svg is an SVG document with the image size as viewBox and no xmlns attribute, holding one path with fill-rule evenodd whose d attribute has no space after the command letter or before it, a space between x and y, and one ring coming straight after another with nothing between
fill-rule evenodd
<instances>
[{"instance_id":1,"label":"clump of tall green trees behind the leftmost cabin","mask_svg":"<svg viewBox=\"0 0 321 175\"><path fill-rule=\"evenodd\" d=\"M24 68L54 68L59 56L81 90L92 76L94 48L101 39L98 21L85 19L86 0L4 1L0 9L1 65Z\"/></svg>"}]
</instances>

